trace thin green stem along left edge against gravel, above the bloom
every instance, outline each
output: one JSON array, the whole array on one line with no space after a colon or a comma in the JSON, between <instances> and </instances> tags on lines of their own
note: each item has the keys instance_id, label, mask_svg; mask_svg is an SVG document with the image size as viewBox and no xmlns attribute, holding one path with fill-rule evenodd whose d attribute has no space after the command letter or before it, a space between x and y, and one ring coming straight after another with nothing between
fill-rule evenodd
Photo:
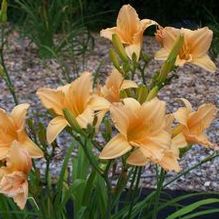
<instances>
[{"instance_id":1,"label":"thin green stem along left edge against gravel, above the bloom","mask_svg":"<svg viewBox=\"0 0 219 219\"><path fill-rule=\"evenodd\" d=\"M8 74L8 71L7 71L7 68L5 66L5 60L4 60L4 45L5 45L5 42L4 42L4 39L5 39L5 26L4 24L2 24L1 26L1 47L0 47L0 59L1 59L1 65L3 67L3 70L4 70L4 76L3 79L4 81L6 82L6 85L13 97L13 100L14 100L14 103L15 105L18 105L18 99L17 99L17 96L16 96L16 93L15 93L15 89L14 89L14 85L11 81L11 78Z\"/></svg>"}]
</instances>

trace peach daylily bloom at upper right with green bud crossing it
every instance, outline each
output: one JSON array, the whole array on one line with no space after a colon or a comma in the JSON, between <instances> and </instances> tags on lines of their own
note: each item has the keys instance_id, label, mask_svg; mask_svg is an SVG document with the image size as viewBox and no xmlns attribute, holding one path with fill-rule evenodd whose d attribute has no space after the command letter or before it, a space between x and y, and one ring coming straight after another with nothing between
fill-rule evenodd
<instances>
[{"instance_id":1,"label":"peach daylily bloom at upper right with green bud crossing it","mask_svg":"<svg viewBox=\"0 0 219 219\"><path fill-rule=\"evenodd\" d=\"M207 54L213 36L213 32L208 27L197 30L174 27L158 29L155 36L162 48L155 54L155 59L166 60L180 34L184 36L184 44L175 64L183 66L186 63L192 63L210 72L215 72L216 66Z\"/></svg>"}]
</instances>

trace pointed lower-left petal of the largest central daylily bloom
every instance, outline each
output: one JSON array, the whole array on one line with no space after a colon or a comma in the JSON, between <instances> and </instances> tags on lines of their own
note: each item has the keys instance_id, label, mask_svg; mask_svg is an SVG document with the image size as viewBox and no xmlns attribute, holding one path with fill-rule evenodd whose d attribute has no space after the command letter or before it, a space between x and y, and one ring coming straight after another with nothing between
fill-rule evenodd
<instances>
[{"instance_id":1,"label":"pointed lower-left petal of the largest central daylily bloom","mask_svg":"<svg viewBox=\"0 0 219 219\"><path fill-rule=\"evenodd\" d=\"M117 134L113 137L101 151L100 159L115 159L130 151L132 147L129 145L125 137Z\"/></svg>"}]
</instances>

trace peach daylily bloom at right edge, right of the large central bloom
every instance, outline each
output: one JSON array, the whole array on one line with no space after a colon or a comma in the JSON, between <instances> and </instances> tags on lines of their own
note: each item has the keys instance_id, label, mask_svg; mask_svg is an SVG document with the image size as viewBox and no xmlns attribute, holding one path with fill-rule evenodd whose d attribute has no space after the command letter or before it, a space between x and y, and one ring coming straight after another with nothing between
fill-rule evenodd
<instances>
[{"instance_id":1,"label":"peach daylily bloom at right edge, right of the large central bloom","mask_svg":"<svg viewBox=\"0 0 219 219\"><path fill-rule=\"evenodd\" d=\"M201 144L213 146L204 134L217 113L217 108L213 104L203 104L197 111L192 110L188 100L183 99L185 107L179 108L174 117L180 123L181 132L189 144ZM180 130L180 129L179 129Z\"/></svg>"}]
</instances>

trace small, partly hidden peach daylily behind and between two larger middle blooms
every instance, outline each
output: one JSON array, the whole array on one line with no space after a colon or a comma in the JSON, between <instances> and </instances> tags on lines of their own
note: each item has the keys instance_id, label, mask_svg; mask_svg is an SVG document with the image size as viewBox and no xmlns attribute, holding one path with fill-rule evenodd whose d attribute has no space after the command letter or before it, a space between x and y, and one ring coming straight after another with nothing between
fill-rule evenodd
<instances>
[{"instance_id":1,"label":"small, partly hidden peach daylily behind and between two larger middle blooms","mask_svg":"<svg viewBox=\"0 0 219 219\"><path fill-rule=\"evenodd\" d=\"M122 74L114 69L106 79L105 85L100 87L99 94L109 102L114 103L120 101L120 91L135 87L137 84L134 81L125 80Z\"/></svg>"}]
</instances>

